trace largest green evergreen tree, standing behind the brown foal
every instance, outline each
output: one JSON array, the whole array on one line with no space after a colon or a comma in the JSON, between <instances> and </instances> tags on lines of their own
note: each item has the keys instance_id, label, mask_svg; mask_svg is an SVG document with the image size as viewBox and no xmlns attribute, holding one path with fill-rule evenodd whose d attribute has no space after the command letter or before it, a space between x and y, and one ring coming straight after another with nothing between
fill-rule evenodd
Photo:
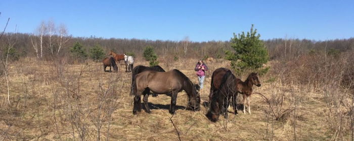
<instances>
[{"instance_id":1,"label":"largest green evergreen tree, standing behind the brown foal","mask_svg":"<svg viewBox=\"0 0 354 141\"><path fill-rule=\"evenodd\" d=\"M244 72L245 69L257 70L260 74L268 72L269 67L262 68L263 63L269 60L268 50L259 39L260 35L256 32L257 29L247 32L245 35L234 33L234 38L231 38L231 46L235 52L227 51L226 59L231 60L231 66L238 73Z\"/></svg>"}]
</instances>

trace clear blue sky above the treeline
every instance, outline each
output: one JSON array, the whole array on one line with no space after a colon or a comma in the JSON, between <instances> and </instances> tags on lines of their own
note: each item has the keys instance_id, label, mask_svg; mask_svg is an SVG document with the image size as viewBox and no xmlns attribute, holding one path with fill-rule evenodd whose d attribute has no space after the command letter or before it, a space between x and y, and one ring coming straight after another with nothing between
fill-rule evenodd
<instances>
[{"instance_id":1,"label":"clear blue sky above the treeline","mask_svg":"<svg viewBox=\"0 0 354 141\"><path fill-rule=\"evenodd\" d=\"M0 29L33 33L41 21L74 37L228 41L257 29L261 39L354 37L354 1L6 1Z\"/></svg>"}]
</instances>

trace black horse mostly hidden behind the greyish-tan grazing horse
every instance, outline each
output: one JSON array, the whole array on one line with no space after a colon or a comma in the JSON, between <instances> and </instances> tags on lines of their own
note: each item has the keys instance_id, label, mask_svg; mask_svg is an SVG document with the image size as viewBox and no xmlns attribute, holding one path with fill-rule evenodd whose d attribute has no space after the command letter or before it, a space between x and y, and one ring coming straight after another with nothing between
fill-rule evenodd
<instances>
[{"instance_id":1,"label":"black horse mostly hidden behind the greyish-tan grazing horse","mask_svg":"<svg viewBox=\"0 0 354 141\"><path fill-rule=\"evenodd\" d=\"M136 67L134 67L134 69L132 70L131 73L131 87L130 87L130 95L133 95L132 91L133 91L133 86L135 83L135 79L134 77L142 72L145 72L146 70L152 70L155 72L166 72L160 65L155 65L155 66L144 66L144 65L138 65ZM153 94L153 97L156 97L157 94Z\"/></svg>"}]
</instances>

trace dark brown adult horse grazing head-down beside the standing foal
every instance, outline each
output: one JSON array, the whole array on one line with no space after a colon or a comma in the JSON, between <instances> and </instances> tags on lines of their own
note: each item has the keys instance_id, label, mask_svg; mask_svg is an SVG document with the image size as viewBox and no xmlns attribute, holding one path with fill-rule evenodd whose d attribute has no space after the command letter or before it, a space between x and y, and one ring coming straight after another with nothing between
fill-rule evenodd
<instances>
[{"instance_id":1,"label":"dark brown adult horse grazing head-down beside the standing foal","mask_svg":"<svg viewBox=\"0 0 354 141\"><path fill-rule=\"evenodd\" d=\"M237 97L236 84L239 81L229 69L217 68L211 76L209 103L210 109L207 116L211 121L216 122L220 114L224 114L228 118L227 108L230 104L230 99ZM235 103L236 104L236 103ZM235 114L237 108L234 105Z\"/></svg>"}]
</instances>

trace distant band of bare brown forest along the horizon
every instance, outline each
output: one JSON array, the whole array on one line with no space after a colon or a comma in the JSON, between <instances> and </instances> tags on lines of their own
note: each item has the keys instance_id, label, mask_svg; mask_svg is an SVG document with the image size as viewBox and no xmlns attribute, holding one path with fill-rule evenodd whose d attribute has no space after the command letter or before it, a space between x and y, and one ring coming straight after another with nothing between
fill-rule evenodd
<instances>
[{"instance_id":1,"label":"distant band of bare brown forest along the horizon","mask_svg":"<svg viewBox=\"0 0 354 141\"><path fill-rule=\"evenodd\" d=\"M36 40L34 40L36 39ZM43 56L40 59L47 60L53 56L64 57L70 55L70 47L75 42L80 42L86 51L89 51L94 45L99 45L106 52L113 50L118 54L127 52L134 53L137 57L142 57L143 48L152 46L155 49L159 59L177 56L179 58L203 58L214 57L224 58L225 50L233 51L230 41L208 41L193 42L187 40L171 41L171 40L146 40L146 39L119 39L119 38L97 38L97 37L66 37L68 40L62 44L58 54L52 55L51 51L58 51L60 37L54 35L49 37L45 35L42 38ZM230 37L231 39L231 37ZM38 37L26 33L5 33L0 39L0 55L4 55L4 51L10 45L13 45L16 54L19 57L36 57L33 45L38 42ZM307 39L269 39L263 40L268 48L270 59L278 59L289 56L296 57L304 53L324 51L345 52L354 48L354 38L336 39L326 41L315 41ZM38 44L38 43L37 43ZM51 46L51 47L49 47ZM105 52L105 53L106 53ZM106 54L106 56L108 56Z\"/></svg>"}]
</instances>

